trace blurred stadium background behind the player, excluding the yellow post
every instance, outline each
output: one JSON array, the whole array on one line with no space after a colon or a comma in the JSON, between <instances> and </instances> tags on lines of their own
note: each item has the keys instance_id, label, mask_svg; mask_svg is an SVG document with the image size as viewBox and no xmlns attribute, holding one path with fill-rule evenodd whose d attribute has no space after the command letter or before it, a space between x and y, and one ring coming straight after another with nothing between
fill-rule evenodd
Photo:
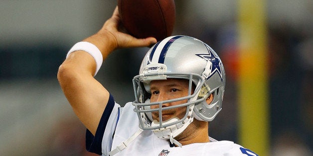
<instances>
[{"instance_id":1,"label":"blurred stadium background behind the player, excluding the yellow post","mask_svg":"<svg viewBox=\"0 0 313 156\"><path fill-rule=\"evenodd\" d=\"M267 66L262 83L266 85L266 109L257 117L267 122L251 117L255 120L251 123L247 116L239 119L242 65L238 36L245 30L238 26L237 0L176 0L173 35L205 41L220 55L226 69L223 111L210 123L211 137L243 144L264 156L312 156L313 1L256 1L265 6L261 15L265 31L261 32L266 36L263 63ZM116 4L116 0L0 1L1 156L92 156L85 151L85 128L64 97L56 74L71 46L97 32ZM133 100L132 78L146 50L118 50L96 76L118 103ZM257 94L258 90L249 92ZM263 151L243 141L240 127L259 124L264 128L253 133L265 134L260 143L266 144Z\"/></svg>"}]
</instances>

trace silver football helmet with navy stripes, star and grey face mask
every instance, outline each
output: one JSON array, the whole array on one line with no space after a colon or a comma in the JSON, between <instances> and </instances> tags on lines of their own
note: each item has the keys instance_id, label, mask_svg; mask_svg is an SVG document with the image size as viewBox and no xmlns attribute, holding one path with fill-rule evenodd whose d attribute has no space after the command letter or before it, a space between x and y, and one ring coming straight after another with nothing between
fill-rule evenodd
<instances>
[{"instance_id":1,"label":"silver football helmet with navy stripes, star and grey face mask","mask_svg":"<svg viewBox=\"0 0 313 156\"><path fill-rule=\"evenodd\" d=\"M189 91L185 97L150 102L152 80L183 78L189 80ZM146 54L139 75L133 79L135 101L134 111L139 117L139 127L153 130L158 138L170 139L179 135L193 118L212 121L222 109L225 88L225 71L220 58L211 47L189 36L170 36L157 42ZM193 91L191 91L194 89ZM193 92L193 93L192 93ZM213 94L213 101L206 98ZM162 107L163 103L186 100L187 103ZM156 105L156 109L150 106ZM161 120L161 111L177 107L186 108L183 118L173 117ZM160 120L152 118L157 111Z\"/></svg>"}]
</instances>

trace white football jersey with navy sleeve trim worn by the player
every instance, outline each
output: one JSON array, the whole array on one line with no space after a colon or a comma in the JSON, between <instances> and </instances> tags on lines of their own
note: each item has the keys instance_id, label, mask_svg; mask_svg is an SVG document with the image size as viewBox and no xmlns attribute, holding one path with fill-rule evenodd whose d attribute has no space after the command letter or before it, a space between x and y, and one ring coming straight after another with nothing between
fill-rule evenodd
<instances>
[{"instance_id":1,"label":"white football jersey with navy sleeve trim worn by the player","mask_svg":"<svg viewBox=\"0 0 313 156\"><path fill-rule=\"evenodd\" d=\"M89 152L109 156L123 141L138 131L139 121L129 102L120 107L110 95L107 108L100 120L96 136L87 130L86 146ZM180 147L157 138L151 130L143 131L126 149L114 156L257 156L252 151L230 141L195 143Z\"/></svg>"}]
</instances>

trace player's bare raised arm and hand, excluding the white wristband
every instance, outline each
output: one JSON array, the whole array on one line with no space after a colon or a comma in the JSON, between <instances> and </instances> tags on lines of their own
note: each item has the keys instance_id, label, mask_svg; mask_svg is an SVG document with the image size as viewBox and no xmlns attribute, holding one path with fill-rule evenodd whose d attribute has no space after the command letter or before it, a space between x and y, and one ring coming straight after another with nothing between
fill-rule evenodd
<instances>
[{"instance_id":1,"label":"player's bare raised arm and hand, excluding the white wristband","mask_svg":"<svg viewBox=\"0 0 313 156\"><path fill-rule=\"evenodd\" d=\"M101 30L83 41L95 45L103 60L117 48L145 47L157 42L153 37L137 39L120 31L122 27L116 7ZM68 55L57 75L75 114L93 135L109 100L109 92L93 77L95 72L95 59L85 51L78 50Z\"/></svg>"}]
</instances>

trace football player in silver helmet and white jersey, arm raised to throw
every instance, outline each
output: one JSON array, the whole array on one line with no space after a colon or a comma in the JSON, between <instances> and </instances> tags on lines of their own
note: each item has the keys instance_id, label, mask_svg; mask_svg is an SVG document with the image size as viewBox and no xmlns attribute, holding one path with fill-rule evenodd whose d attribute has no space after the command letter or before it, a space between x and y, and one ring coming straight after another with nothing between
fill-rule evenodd
<instances>
[{"instance_id":1,"label":"football player in silver helmet and white jersey, arm raised to throw","mask_svg":"<svg viewBox=\"0 0 313 156\"><path fill-rule=\"evenodd\" d=\"M58 71L74 112L87 128L87 150L103 156L257 156L216 141L208 125L222 109L225 71L214 50L188 36L137 39L119 31L118 9L103 28L75 44ZM121 107L94 76L117 48L150 46L135 101Z\"/></svg>"}]
</instances>

